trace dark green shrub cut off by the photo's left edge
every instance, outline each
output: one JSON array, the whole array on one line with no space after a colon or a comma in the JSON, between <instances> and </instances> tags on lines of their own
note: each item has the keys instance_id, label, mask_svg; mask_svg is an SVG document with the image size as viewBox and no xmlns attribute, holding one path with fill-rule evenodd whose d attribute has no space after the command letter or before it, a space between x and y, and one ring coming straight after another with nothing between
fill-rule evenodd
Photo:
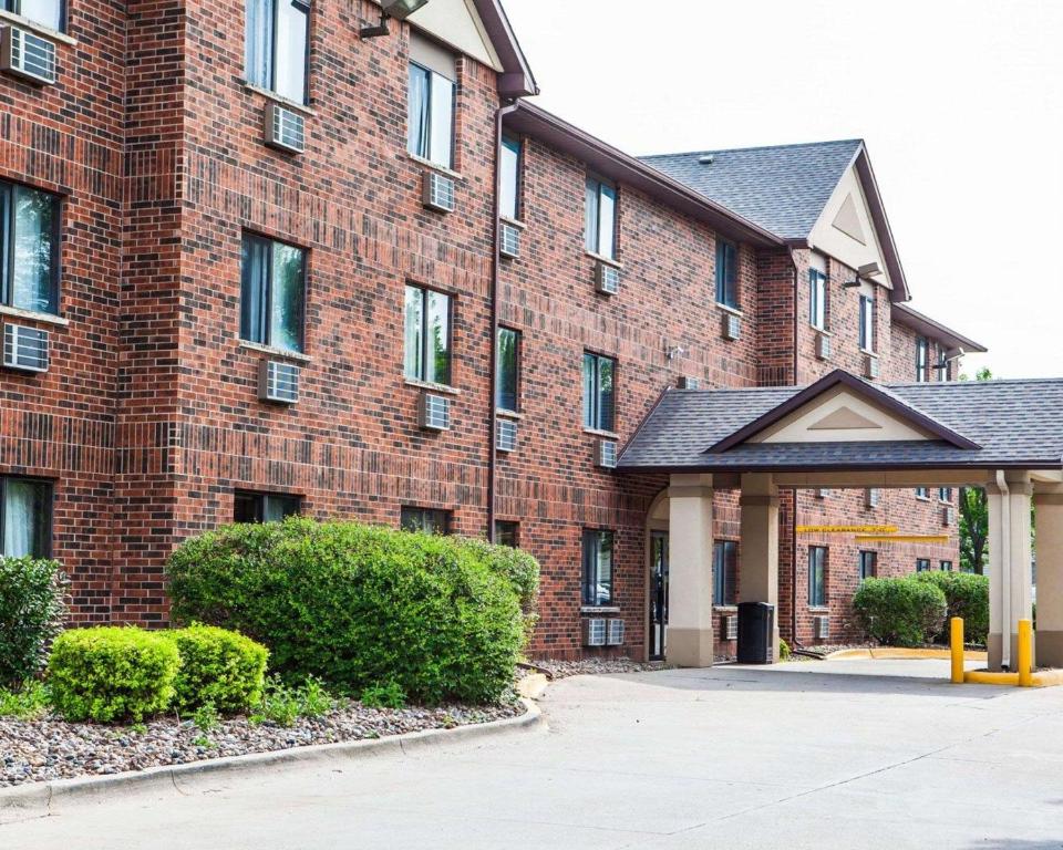
<instances>
[{"instance_id":1,"label":"dark green shrub cut off by the photo's left edge","mask_svg":"<svg viewBox=\"0 0 1063 850\"><path fill-rule=\"evenodd\" d=\"M68 588L55 561L0 557L0 687L40 673L66 620Z\"/></svg>"}]
</instances>

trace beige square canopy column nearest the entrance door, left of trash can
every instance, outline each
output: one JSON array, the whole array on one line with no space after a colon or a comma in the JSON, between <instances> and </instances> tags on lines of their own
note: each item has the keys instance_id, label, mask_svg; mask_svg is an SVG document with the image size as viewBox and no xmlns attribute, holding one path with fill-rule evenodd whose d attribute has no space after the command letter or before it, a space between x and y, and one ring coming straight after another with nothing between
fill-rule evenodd
<instances>
[{"instance_id":1,"label":"beige square canopy column nearest the entrance door, left of trash can","mask_svg":"<svg viewBox=\"0 0 1063 850\"><path fill-rule=\"evenodd\" d=\"M709 667L712 647L712 476L673 475L668 489L668 661Z\"/></svg>"}]
</instances>

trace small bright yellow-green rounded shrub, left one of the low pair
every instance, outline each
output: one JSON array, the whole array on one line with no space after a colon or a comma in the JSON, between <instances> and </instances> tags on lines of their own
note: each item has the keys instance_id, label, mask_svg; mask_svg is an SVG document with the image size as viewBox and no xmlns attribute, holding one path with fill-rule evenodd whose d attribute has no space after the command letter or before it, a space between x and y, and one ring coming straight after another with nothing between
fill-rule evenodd
<instances>
[{"instance_id":1,"label":"small bright yellow-green rounded shrub, left one of the low pair","mask_svg":"<svg viewBox=\"0 0 1063 850\"><path fill-rule=\"evenodd\" d=\"M174 697L180 656L157 632L103 626L63 632L52 644L48 684L69 721L142 721Z\"/></svg>"}]
</instances>

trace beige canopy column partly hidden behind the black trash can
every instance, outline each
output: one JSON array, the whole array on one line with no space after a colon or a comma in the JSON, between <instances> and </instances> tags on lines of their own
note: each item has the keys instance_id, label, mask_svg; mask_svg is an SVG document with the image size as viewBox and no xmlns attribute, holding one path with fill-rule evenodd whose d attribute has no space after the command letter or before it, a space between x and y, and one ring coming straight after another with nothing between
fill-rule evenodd
<instances>
[{"instance_id":1,"label":"beige canopy column partly hidden behind the black trash can","mask_svg":"<svg viewBox=\"0 0 1063 850\"><path fill-rule=\"evenodd\" d=\"M742 476L739 601L775 609L771 660L778 661L778 488L771 474Z\"/></svg>"}]
</instances>

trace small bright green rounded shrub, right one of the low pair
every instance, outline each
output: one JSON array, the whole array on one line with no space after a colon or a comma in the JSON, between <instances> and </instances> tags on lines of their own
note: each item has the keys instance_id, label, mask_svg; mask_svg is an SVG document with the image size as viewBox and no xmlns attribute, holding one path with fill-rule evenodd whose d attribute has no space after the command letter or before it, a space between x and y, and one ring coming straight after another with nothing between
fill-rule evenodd
<instances>
[{"instance_id":1,"label":"small bright green rounded shrub, right one of the low pair","mask_svg":"<svg viewBox=\"0 0 1063 850\"><path fill-rule=\"evenodd\" d=\"M262 644L215 625L195 624L164 634L180 654L174 683L178 712L210 704L220 714L240 714L261 699L269 657Z\"/></svg>"}]
</instances>

